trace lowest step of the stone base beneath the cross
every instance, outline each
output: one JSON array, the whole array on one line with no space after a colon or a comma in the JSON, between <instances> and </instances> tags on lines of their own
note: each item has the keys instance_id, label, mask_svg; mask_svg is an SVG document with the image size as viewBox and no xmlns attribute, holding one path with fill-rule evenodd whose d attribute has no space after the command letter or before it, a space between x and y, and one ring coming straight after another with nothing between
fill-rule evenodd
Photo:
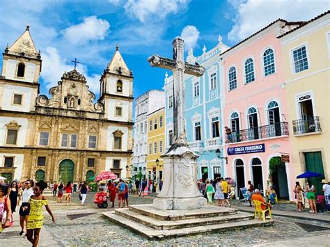
<instances>
[{"instance_id":1,"label":"lowest step of the stone base beneath the cross","mask_svg":"<svg viewBox=\"0 0 330 247\"><path fill-rule=\"evenodd\" d=\"M109 220L123 225L130 230L137 232L148 239L164 239L168 237L181 237L189 234L201 234L204 232L224 232L228 230L237 230L244 228L254 228L260 226L273 225L273 221L260 221L256 220L247 220L247 221L237 221L237 222L228 222L222 224L213 224L213 225L203 225L203 226L194 226L191 228L182 228L182 229L171 229L171 230L156 230L150 228L147 225L143 225L136 221L132 221L130 218L125 218L115 212L106 212L102 216L109 218Z\"/></svg>"}]
</instances>

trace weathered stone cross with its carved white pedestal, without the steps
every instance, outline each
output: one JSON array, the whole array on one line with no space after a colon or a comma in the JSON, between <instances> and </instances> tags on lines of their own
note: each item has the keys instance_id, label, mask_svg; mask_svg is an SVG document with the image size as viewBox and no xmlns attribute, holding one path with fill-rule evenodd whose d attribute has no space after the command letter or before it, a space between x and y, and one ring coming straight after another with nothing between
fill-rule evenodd
<instances>
[{"instance_id":1,"label":"weathered stone cross with its carved white pedestal, without the steps","mask_svg":"<svg viewBox=\"0 0 330 247\"><path fill-rule=\"evenodd\" d=\"M196 159L189 149L184 123L184 74L201 77L204 67L184 62L181 38L173 40L173 59L154 55L148 58L150 65L173 72L173 144L164 158L164 184L153 202L158 209L196 209L206 199L198 191L196 180Z\"/></svg>"}]
</instances>

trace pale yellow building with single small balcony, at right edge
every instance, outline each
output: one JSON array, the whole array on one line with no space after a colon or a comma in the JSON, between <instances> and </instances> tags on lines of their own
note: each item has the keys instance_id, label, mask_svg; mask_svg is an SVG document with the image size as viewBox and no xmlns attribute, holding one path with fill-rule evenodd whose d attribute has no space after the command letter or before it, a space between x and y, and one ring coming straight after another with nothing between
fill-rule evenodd
<instances>
[{"instance_id":1,"label":"pale yellow building with single small balcony, at right edge","mask_svg":"<svg viewBox=\"0 0 330 247\"><path fill-rule=\"evenodd\" d=\"M311 182L317 193L322 193L320 181L324 177L330 180L330 12L278 38L288 99L290 164L297 175L305 171L321 173L323 177L312 178ZM304 184L305 180L301 182Z\"/></svg>"}]
</instances>

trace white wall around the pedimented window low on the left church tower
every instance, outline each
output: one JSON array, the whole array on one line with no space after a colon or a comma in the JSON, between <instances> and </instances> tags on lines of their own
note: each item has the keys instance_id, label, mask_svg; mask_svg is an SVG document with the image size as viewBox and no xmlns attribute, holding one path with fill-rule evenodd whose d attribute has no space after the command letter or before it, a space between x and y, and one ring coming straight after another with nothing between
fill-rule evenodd
<instances>
[{"instance_id":1,"label":"white wall around the pedimented window low on the left church tower","mask_svg":"<svg viewBox=\"0 0 330 247\"><path fill-rule=\"evenodd\" d=\"M24 147L26 143L26 134L28 129L28 120L26 118L6 118L0 117L0 145L6 145L7 127L6 124L15 120L19 127L17 133L17 147Z\"/></svg>"}]
</instances>

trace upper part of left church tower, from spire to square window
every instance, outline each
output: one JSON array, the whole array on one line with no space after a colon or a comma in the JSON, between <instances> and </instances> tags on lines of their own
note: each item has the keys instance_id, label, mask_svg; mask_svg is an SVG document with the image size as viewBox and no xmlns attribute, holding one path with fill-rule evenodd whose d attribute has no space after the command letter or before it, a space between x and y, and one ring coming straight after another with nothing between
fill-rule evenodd
<instances>
[{"instance_id":1,"label":"upper part of left church tower, from spire to square window","mask_svg":"<svg viewBox=\"0 0 330 247\"><path fill-rule=\"evenodd\" d=\"M33 43L30 27L3 52L0 77L0 109L34 111L41 72L40 50Z\"/></svg>"}]
</instances>

